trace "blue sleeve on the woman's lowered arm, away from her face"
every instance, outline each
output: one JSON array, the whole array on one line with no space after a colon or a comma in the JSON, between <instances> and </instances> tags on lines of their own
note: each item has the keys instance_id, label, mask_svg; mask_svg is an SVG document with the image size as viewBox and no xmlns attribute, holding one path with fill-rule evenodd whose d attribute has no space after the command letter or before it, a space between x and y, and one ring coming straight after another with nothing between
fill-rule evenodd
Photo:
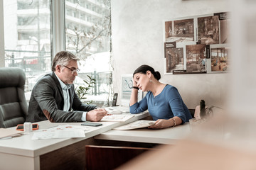
<instances>
[{"instance_id":1,"label":"blue sleeve on the woman's lowered arm, away from her face","mask_svg":"<svg viewBox=\"0 0 256 170\"><path fill-rule=\"evenodd\" d=\"M183 101L181 95L178 93L178 90L175 87L172 87L166 96L169 96L169 106L174 116L181 118L182 123L186 122L186 112L183 108ZM171 98L170 98L171 96Z\"/></svg>"}]
</instances>

